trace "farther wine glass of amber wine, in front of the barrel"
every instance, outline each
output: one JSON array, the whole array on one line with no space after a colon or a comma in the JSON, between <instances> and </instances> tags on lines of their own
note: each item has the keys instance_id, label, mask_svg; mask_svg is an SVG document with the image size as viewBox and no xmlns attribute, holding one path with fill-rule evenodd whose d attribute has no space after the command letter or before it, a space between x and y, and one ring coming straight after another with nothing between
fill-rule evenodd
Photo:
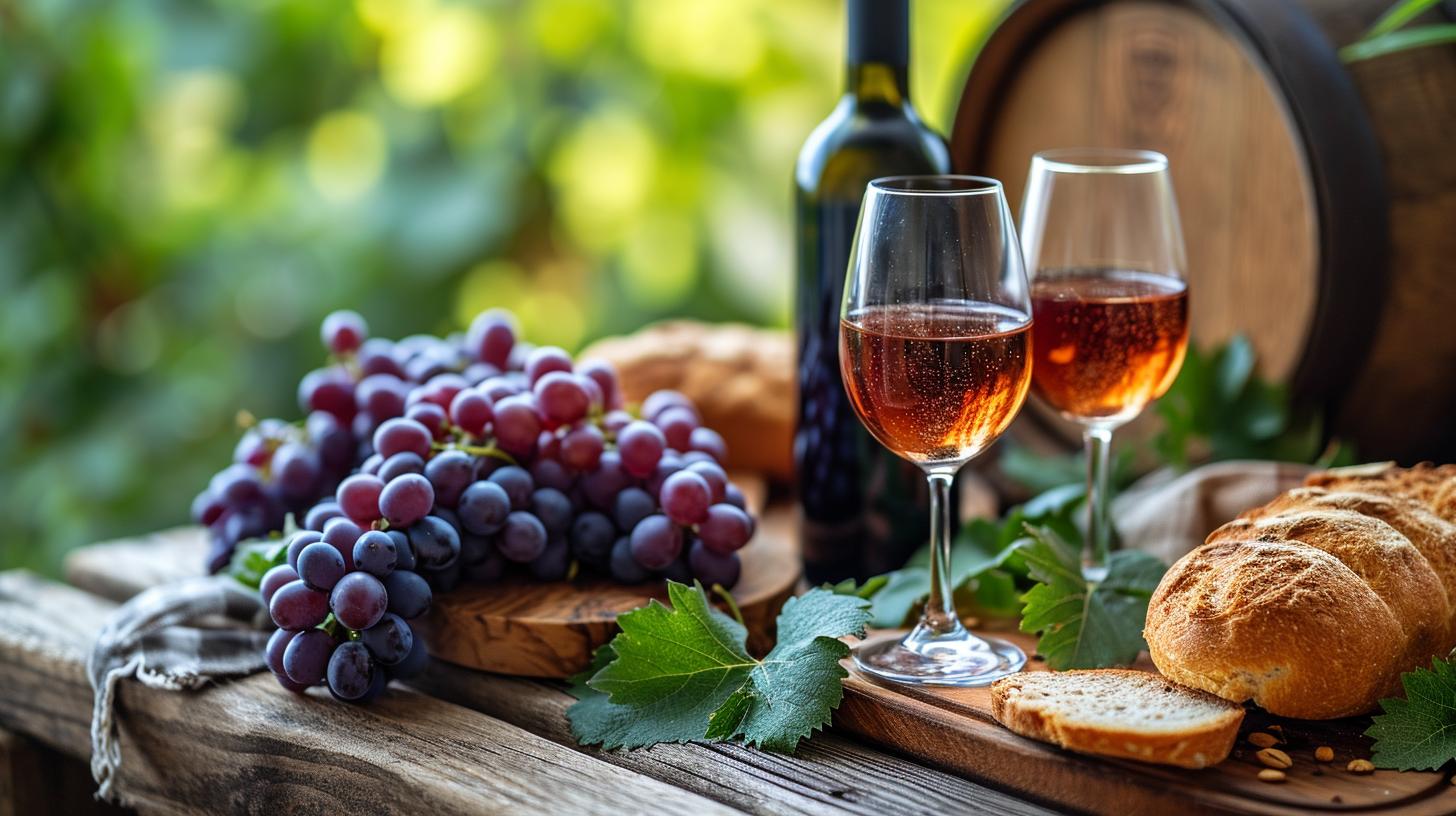
<instances>
[{"instance_id":1,"label":"farther wine glass of amber wine, in front of the barrel","mask_svg":"<svg viewBox=\"0 0 1456 816\"><path fill-rule=\"evenodd\" d=\"M1112 538L1112 428L1168 391L1188 350L1188 264L1168 157L1115 149L1037 153L1021 243L1031 270L1032 391L1083 428L1082 573L1101 581Z\"/></svg>"}]
</instances>

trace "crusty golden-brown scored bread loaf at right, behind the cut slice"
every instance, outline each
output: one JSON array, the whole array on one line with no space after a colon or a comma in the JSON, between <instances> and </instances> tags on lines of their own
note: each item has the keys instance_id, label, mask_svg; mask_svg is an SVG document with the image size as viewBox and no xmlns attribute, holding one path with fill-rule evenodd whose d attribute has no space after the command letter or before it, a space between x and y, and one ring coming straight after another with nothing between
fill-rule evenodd
<instances>
[{"instance_id":1,"label":"crusty golden-brown scored bread loaf at right, behind the cut slice","mask_svg":"<svg viewBox=\"0 0 1456 816\"><path fill-rule=\"evenodd\" d=\"M1363 714L1456 647L1456 468L1313 474L1163 576L1149 653L1168 678L1273 714ZM1444 506L1447 510L1450 506Z\"/></svg>"}]
</instances>

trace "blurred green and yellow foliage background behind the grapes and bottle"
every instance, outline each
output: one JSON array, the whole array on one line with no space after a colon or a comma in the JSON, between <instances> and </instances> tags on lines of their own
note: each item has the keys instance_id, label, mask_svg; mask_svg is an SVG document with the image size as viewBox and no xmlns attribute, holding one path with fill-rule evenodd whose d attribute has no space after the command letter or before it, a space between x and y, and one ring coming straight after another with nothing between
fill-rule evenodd
<instances>
[{"instance_id":1,"label":"blurred green and yellow foliage background behind the grapes and bottle","mask_svg":"<svg viewBox=\"0 0 1456 816\"><path fill-rule=\"evenodd\" d=\"M1005 0L916 0L945 133ZM0 0L0 568L186 522L317 325L783 326L840 0Z\"/></svg>"}]
</instances>

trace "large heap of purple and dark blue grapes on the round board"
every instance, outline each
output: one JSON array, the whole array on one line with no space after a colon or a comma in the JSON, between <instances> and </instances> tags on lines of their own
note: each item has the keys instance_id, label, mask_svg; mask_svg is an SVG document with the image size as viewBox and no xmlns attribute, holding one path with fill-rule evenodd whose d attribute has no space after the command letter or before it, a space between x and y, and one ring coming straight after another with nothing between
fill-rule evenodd
<instances>
[{"instance_id":1,"label":"large heap of purple and dark blue grapes on the round board","mask_svg":"<svg viewBox=\"0 0 1456 816\"><path fill-rule=\"evenodd\" d=\"M329 315L331 361L298 386L307 418L249 427L194 501L214 573L240 541L303 519L261 584L285 688L367 702L418 673L409 622L462 581L738 581L756 520L696 405L658 391L629 411L609 361L514 325L489 310L464 334L389 341Z\"/></svg>"}]
</instances>

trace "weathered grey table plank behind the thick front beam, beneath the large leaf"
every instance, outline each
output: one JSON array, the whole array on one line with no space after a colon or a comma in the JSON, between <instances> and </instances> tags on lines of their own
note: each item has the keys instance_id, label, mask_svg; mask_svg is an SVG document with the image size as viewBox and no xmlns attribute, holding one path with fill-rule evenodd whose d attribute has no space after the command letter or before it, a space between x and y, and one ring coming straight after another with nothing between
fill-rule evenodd
<instances>
[{"instance_id":1,"label":"weathered grey table plank behind the thick front beam, beneath the large leaf","mask_svg":"<svg viewBox=\"0 0 1456 816\"><path fill-rule=\"evenodd\" d=\"M67 578L124 600L159 580L195 574L204 551L201 536L194 533L186 544L179 532L151 536L150 545L122 541L87 546L67 558ZM660 745L646 750L601 752L579 749L571 737L565 711L572 698L561 685L444 662L434 662L411 685L613 765L761 816L1051 813L834 733L815 734L801 743L792 758L735 745Z\"/></svg>"}]
</instances>

